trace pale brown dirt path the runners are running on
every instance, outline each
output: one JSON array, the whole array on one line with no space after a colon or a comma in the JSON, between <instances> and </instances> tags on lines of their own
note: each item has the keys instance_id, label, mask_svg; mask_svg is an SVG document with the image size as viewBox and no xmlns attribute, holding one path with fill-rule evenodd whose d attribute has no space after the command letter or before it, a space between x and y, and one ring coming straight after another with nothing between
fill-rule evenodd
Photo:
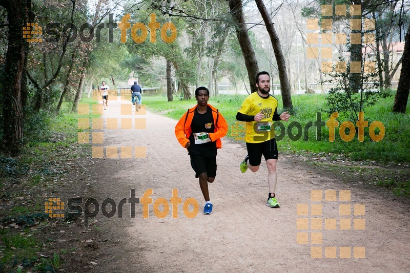
<instances>
[{"instance_id":1,"label":"pale brown dirt path the runners are running on","mask_svg":"<svg viewBox=\"0 0 410 273\"><path fill-rule=\"evenodd\" d=\"M110 101L104 117L120 116L119 101ZM281 208L265 206L267 199L267 169L241 174L239 162L245 155L242 145L222 139L218 151L217 177L210 184L212 215L202 215L203 197L189 156L174 135L175 120L147 112L145 130L105 130L104 145L146 146L146 158L93 159L90 172L95 181L90 195L101 203L112 198L117 203L129 198L130 190L142 198L152 188L151 198L168 201L172 189L178 189L182 202L193 197L199 202L199 214L189 219L178 206L178 218L172 218L172 208L166 218L157 218L149 205L148 219L142 218L142 205L137 204L135 218L129 216L129 204L124 205L124 218L115 215L110 221L97 223L103 232L90 254L97 257L87 271L366 271L404 272L410 268L410 213L401 205L377 192L341 184L339 180L316 173L292 156L279 155L277 197ZM280 153L280 151L279 151ZM139 177L133 168L138 166ZM311 191L322 191L322 202L311 201ZM325 191L336 190L337 201L325 201ZM350 191L351 201L340 201L340 191ZM346 192L342 192L346 193ZM331 194L331 192L326 192ZM329 195L328 195L329 196ZM297 204L307 204L310 215L297 215ZM322 205L322 215L311 215ZM355 206L365 206L365 215L354 215ZM340 216L339 205L351 208L351 215ZM356 214L362 206L356 207ZM343 207L342 207L343 210ZM298 230L297 218L320 218L320 230ZM105 219L101 213L96 219ZM325 219L337 219L337 229L325 229ZM339 229L351 220L350 230ZM364 219L364 220L360 220ZM303 224L303 220L300 224ZM317 221L317 220L314 220ZM320 220L319 220L320 221ZM326 227L331 226L328 220ZM364 221L364 226L363 226ZM364 228L364 229L354 229ZM301 233L297 242L297 234ZM312 233L316 235L312 236ZM322 243L317 243L318 233ZM308 236L308 241L303 241ZM312 240L314 240L312 242ZM311 258L311 247L320 249L322 258ZM327 248L325 254L325 247ZM345 248L340 248L345 247ZM364 258L360 255L364 247ZM326 258L326 255L337 258ZM354 254L356 250L356 254ZM348 251L351 251L349 254ZM98 255L98 256L96 256ZM340 256L346 255L346 258ZM99 258L98 258L99 257ZM348 257L348 258L347 258Z\"/></svg>"}]
</instances>

